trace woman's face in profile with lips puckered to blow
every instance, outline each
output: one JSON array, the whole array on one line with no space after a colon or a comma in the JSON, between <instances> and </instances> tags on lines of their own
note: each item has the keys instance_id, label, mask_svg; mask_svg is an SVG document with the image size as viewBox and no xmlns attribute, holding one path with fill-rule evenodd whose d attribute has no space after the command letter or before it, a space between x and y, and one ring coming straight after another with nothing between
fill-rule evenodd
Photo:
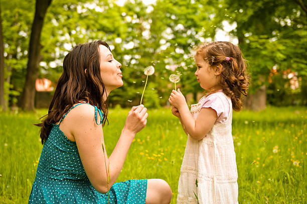
<instances>
[{"instance_id":1,"label":"woman's face in profile with lips puckered to blow","mask_svg":"<svg viewBox=\"0 0 307 204\"><path fill-rule=\"evenodd\" d=\"M121 64L116 61L110 50L104 45L99 45L100 74L107 92L123 85Z\"/></svg>"}]
</instances>

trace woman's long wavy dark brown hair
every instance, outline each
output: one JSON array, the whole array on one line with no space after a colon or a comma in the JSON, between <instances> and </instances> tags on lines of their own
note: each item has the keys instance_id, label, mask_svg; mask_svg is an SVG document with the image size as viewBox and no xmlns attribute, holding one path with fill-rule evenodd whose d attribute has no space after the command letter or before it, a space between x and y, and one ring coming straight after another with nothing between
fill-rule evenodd
<instances>
[{"instance_id":1,"label":"woman's long wavy dark brown hair","mask_svg":"<svg viewBox=\"0 0 307 204\"><path fill-rule=\"evenodd\" d=\"M102 111L102 125L107 121L108 107L107 100L103 100L106 89L100 75L99 45L110 50L106 42L96 40L76 45L65 56L63 73L52 97L47 117L44 116L46 118L42 123L35 124L41 127L42 144L48 139L53 124L60 121L74 104L81 101L86 101Z\"/></svg>"}]
</instances>

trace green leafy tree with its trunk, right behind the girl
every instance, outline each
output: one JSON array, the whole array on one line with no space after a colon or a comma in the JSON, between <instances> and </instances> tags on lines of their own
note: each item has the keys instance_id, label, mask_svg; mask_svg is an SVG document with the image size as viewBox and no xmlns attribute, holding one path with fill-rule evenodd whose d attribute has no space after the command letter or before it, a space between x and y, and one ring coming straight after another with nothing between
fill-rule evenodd
<instances>
[{"instance_id":1,"label":"green leafy tree with its trunk, right behind the girl","mask_svg":"<svg viewBox=\"0 0 307 204\"><path fill-rule=\"evenodd\" d=\"M268 75L273 66L278 71L292 69L305 75L307 18L297 2L300 1L224 1L220 13L237 24L232 34L237 36L250 65L247 108L265 108Z\"/></svg>"}]
</instances>

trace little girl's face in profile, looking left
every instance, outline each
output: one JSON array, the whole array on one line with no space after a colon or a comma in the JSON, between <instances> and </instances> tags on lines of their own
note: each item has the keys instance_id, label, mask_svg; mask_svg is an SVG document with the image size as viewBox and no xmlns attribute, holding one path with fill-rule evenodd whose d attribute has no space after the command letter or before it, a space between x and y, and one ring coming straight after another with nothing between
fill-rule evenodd
<instances>
[{"instance_id":1,"label":"little girl's face in profile, looking left","mask_svg":"<svg viewBox=\"0 0 307 204\"><path fill-rule=\"evenodd\" d=\"M206 90L212 89L218 82L215 70L200 54L195 57L195 62L197 66L195 76L197 81L200 83L200 86Z\"/></svg>"}]
</instances>

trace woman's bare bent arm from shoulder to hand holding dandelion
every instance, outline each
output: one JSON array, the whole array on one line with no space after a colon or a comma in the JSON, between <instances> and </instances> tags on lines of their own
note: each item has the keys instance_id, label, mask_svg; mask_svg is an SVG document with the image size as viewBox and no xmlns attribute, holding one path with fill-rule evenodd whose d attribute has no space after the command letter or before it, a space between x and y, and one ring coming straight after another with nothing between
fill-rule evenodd
<instances>
[{"instance_id":1,"label":"woman's bare bent arm from shoulder to hand holding dandelion","mask_svg":"<svg viewBox=\"0 0 307 204\"><path fill-rule=\"evenodd\" d=\"M135 134L146 125L148 116L146 108L141 105L130 110L119 140L109 158L106 151L103 152L105 145L102 127L95 123L94 108L85 104L75 109L71 114L70 124L67 125L71 127L71 134L76 141L82 165L91 184L97 191L106 193L121 171ZM100 121L99 117L98 121ZM110 177L109 189L107 188L107 171Z\"/></svg>"}]
</instances>

